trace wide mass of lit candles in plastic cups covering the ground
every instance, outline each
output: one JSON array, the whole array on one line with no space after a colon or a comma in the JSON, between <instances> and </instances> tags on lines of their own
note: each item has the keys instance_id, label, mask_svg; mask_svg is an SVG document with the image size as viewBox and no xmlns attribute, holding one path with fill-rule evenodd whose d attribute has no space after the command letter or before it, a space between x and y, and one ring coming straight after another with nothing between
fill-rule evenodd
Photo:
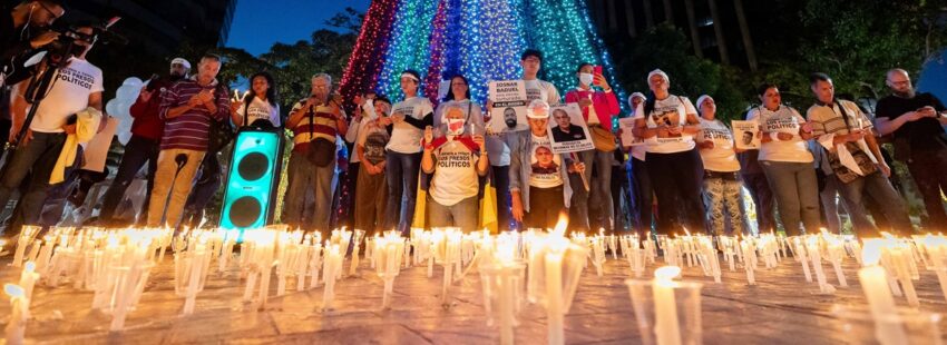
<instances>
[{"instance_id":1,"label":"wide mass of lit candles in plastic cups covering the ground","mask_svg":"<svg viewBox=\"0 0 947 345\"><path fill-rule=\"evenodd\" d=\"M912 307L919 305L912 283L919 279L918 263L936 273L947 296L947 239L939 235L912 238L886 235L882 239L865 240L863 250L861 243L855 238L826 231L797 237L685 234L652 239L604 233L566 237L565 229L560 227L549 231L533 229L499 235L486 231L462 234L458 229L414 229L409 238L397 233L364 238L361 230L339 229L323 240L318 233L271 226L243 233L241 255L234 259L234 248L241 234L233 230L185 230L175 236L169 229L53 228L42 239L37 239L38 231L38 228L25 227L11 263L14 267L28 264L19 285L6 288L14 305L14 319L8 324L8 338L18 335L22 338L31 292L40 276L49 287L70 282L74 288L94 290L92 307L110 313L110 329L120 331L128 310L137 305L144 292L150 269L163 260L169 247L175 249L175 292L185 298L185 315L194 312L195 299L203 290L214 259L219 275L232 272L232 266L238 267L245 282L243 299L252 306L266 305L275 268L277 296L285 294L292 279L295 279L296 290L315 288L321 284L325 310L332 309L334 286L343 276L342 266L350 247L352 256L348 275L357 274L363 239L364 257L384 282L382 308L390 308L394 279L402 267L427 265L428 276L432 277L433 266L442 266L441 296L446 307L449 306L451 285L466 276L467 270L477 267L484 284L488 324L499 325L501 343L505 344L512 343L516 314L523 308L524 300L545 306L549 317L549 343L564 343L563 317L572 304L578 277L588 263L595 267L596 275L602 276L608 252L613 259L617 259L621 253L628 262L629 275L636 278L643 277L648 264L657 264L658 250L662 250L666 266L700 266L703 275L712 277L715 283L721 283L722 256L731 272L736 269L738 264L742 266L749 285L755 285L760 263L765 268L774 268L791 255L801 265L807 282L812 283L814 275L814 283L822 294L834 292L822 263L831 265L838 285L846 287L848 284L841 264L853 257L865 266L859 270L859 280L876 319L890 314L894 296L904 296ZM680 268L676 273L673 269L661 273L656 272L652 286L655 289L655 322L658 323L654 327L655 336L661 344L676 344L674 339L680 341L680 334L674 334L678 333L678 321L676 316L667 316L672 312L668 308L675 305L668 304L667 298L674 295L657 289L673 287L671 279L680 274ZM880 288L879 284L887 288ZM674 325L670 324L672 322ZM879 325L876 329L882 343L904 335L890 325Z\"/></svg>"}]
</instances>

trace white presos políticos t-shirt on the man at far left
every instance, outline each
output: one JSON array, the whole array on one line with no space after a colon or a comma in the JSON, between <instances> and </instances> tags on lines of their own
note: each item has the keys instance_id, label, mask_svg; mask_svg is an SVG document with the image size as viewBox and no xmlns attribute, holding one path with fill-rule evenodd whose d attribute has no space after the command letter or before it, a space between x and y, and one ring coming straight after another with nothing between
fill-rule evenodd
<instances>
[{"instance_id":1,"label":"white presos pol\u00edticos t-shirt on the man at far left","mask_svg":"<svg viewBox=\"0 0 947 345\"><path fill-rule=\"evenodd\" d=\"M53 80L30 124L33 131L62 132L69 116L89 106L89 95L104 90L101 69L76 57L69 59Z\"/></svg>"}]
</instances>

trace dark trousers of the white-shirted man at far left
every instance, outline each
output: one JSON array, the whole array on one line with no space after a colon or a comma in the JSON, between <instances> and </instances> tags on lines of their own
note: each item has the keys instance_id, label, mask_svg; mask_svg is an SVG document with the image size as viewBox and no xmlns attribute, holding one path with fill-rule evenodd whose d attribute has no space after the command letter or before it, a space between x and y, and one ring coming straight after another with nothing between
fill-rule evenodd
<instances>
[{"instance_id":1,"label":"dark trousers of the white-shirted man at far left","mask_svg":"<svg viewBox=\"0 0 947 345\"><path fill-rule=\"evenodd\" d=\"M10 195L20 187L29 174L27 193L20 197L27 225L36 225L39 220L49 189L49 176L65 144L66 134L64 132L35 131L33 139L27 145L19 145L16 150L7 152L7 161L0 176L0 205L7 205Z\"/></svg>"}]
</instances>

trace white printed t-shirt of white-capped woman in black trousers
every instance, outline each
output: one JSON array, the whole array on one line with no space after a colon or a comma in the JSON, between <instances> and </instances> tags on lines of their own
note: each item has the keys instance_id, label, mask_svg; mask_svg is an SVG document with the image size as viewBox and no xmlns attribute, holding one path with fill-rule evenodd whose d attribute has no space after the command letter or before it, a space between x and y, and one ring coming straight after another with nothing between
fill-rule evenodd
<instances>
[{"instance_id":1,"label":"white printed t-shirt of white-capped woman in black trousers","mask_svg":"<svg viewBox=\"0 0 947 345\"><path fill-rule=\"evenodd\" d=\"M665 126L687 125L687 114L697 114L697 109L686 97L670 95L665 99L654 102L654 110L650 115L644 114L644 102L635 109L635 119L645 119L647 128L657 128L658 124ZM658 138L657 136L645 139L647 151L654 154L683 152L694 148L694 137L682 135L675 138Z\"/></svg>"}]
</instances>

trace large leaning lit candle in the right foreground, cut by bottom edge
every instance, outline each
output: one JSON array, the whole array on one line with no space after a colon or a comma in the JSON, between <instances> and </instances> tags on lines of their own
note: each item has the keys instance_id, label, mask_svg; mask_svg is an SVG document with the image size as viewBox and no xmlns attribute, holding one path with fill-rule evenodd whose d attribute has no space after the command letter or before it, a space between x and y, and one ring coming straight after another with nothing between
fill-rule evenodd
<instances>
[{"instance_id":1,"label":"large leaning lit candle in the right foreground, cut by bottom edge","mask_svg":"<svg viewBox=\"0 0 947 345\"><path fill-rule=\"evenodd\" d=\"M875 318L875 336L881 344L907 344L907 334L898 323L898 310L895 297L888 289L885 268L878 266L881 258L880 243L877 239L865 241L862 263L865 267L858 270L858 280L868 298L868 307Z\"/></svg>"}]
</instances>

